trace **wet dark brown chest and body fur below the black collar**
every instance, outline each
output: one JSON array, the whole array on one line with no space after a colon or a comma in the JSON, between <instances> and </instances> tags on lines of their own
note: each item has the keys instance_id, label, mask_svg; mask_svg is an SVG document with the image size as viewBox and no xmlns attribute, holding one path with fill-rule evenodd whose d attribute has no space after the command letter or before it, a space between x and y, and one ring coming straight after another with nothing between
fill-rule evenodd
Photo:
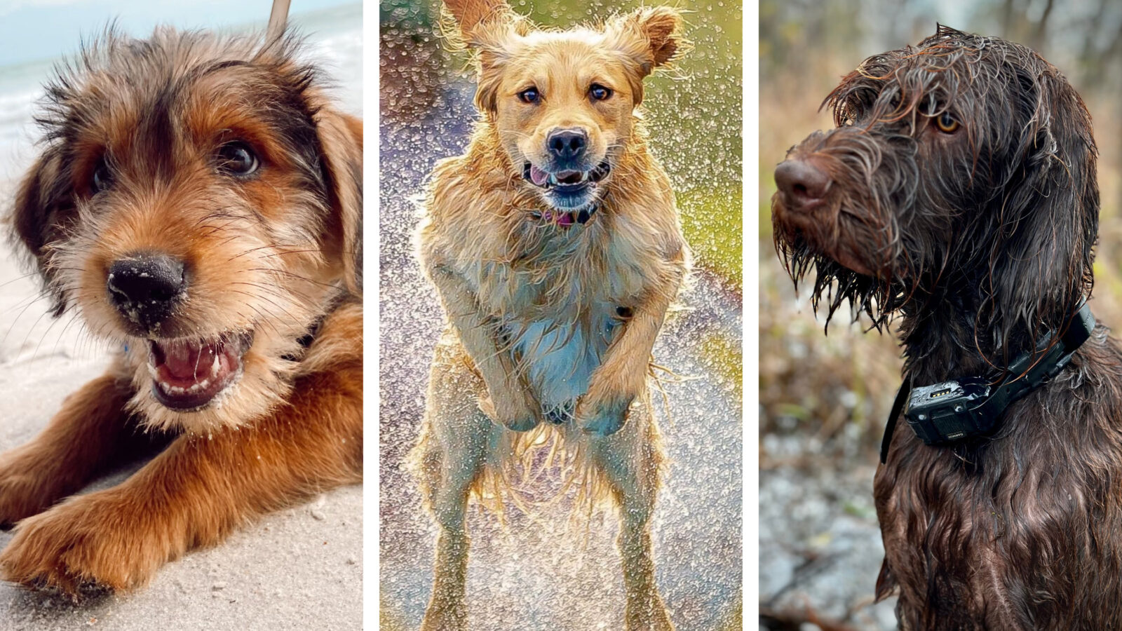
<instances>
[{"instance_id":1,"label":"wet dark brown chest and body fur below the black collar","mask_svg":"<svg viewBox=\"0 0 1122 631\"><path fill-rule=\"evenodd\" d=\"M1118 362L1113 342L1087 342L976 450L898 430L874 494L877 593L900 587L902 629L1122 627Z\"/></svg>"}]
</instances>

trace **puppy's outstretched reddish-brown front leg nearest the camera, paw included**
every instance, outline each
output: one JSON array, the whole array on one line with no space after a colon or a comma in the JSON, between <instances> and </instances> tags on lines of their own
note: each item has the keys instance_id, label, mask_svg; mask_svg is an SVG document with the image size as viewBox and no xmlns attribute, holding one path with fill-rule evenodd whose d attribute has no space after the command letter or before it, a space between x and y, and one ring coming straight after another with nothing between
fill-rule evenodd
<instances>
[{"instance_id":1,"label":"puppy's outstretched reddish-brown front leg nearest the camera, paw included","mask_svg":"<svg viewBox=\"0 0 1122 631\"><path fill-rule=\"evenodd\" d=\"M120 485L19 522L0 574L70 594L141 585L254 516L359 482L361 431L361 366L310 375L291 404L252 428L181 436Z\"/></svg>"}]
</instances>

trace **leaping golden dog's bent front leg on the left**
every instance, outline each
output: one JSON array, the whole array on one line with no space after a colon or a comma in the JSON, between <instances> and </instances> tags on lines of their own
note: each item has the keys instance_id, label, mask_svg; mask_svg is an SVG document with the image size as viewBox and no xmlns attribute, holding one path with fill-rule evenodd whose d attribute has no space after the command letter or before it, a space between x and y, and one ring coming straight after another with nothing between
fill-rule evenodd
<instances>
[{"instance_id":1,"label":"leaping golden dog's bent front leg on the left","mask_svg":"<svg viewBox=\"0 0 1122 631\"><path fill-rule=\"evenodd\" d=\"M542 406L515 371L507 350L495 340L494 324L480 313L476 296L462 278L444 267L430 266L430 275L460 342L487 385L487 395L479 399L479 409L514 431L534 429L542 420Z\"/></svg>"}]
</instances>

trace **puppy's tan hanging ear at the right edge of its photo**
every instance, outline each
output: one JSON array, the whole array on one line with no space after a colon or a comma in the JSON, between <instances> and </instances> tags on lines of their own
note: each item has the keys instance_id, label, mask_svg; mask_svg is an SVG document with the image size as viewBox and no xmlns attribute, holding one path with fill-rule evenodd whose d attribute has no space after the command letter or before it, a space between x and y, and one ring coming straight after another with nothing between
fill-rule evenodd
<instances>
[{"instance_id":1,"label":"puppy's tan hanging ear at the right edge of its photo","mask_svg":"<svg viewBox=\"0 0 1122 631\"><path fill-rule=\"evenodd\" d=\"M343 282L362 295L362 121L327 109L316 115L323 168L331 199L328 252L342 266Z\"/></svg>"}]
</instances>

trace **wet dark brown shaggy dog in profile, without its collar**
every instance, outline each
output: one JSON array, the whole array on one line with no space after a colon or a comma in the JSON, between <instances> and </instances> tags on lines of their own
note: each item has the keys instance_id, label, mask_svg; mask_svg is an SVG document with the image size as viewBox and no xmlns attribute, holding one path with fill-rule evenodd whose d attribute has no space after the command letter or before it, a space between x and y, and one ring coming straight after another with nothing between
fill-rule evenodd
<instances>
[{"instance_id":1,"label":"wet dark brown shaggy dog in profile, without its collar","mask_svg":"<svg viewBox=\"0 0 1122 631\"><path fill-rule=\"evenodd\" d=\"M776 246L816 294L901 316L904 379L1003 376L1092 289L1091 118L1010 42L940 27L830 94L838 128L776 170ZM874 483L902 629L1119 629L1122 354L1098 327L991 437L929 447L905 424Z\"/></svg>"}]
</instances>

